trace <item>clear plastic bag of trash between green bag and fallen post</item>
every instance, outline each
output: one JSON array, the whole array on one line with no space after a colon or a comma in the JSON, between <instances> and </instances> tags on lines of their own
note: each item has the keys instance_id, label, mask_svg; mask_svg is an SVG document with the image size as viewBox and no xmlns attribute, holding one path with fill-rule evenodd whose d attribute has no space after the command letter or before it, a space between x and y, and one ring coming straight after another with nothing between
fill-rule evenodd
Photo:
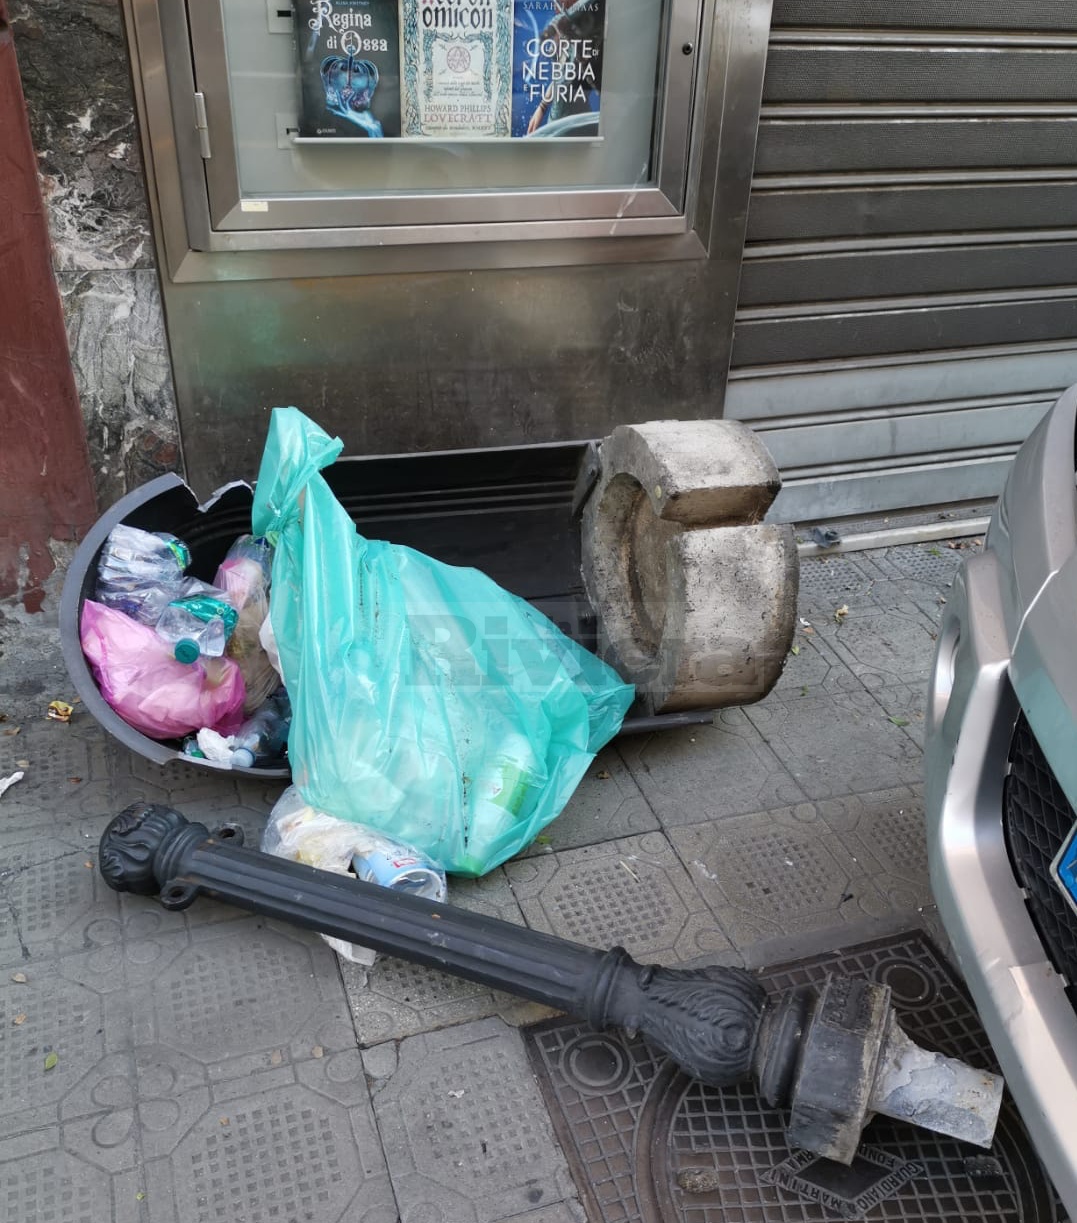
<instances>
[{"instance_id":1,"label":"clear plastic bag of trash between green bag and fallen post","mask_svg":"<svg viewBox=\"0 0 1077 1223\"><path fill-rule=\"evenodd\" d=\"M418 850L401 845L373 828L317 811L293 785L285 790L269 813L262 849L276 857L304 862L336 874L355 874L364 883L379 883L412 896L440 903L447 895L445 872ZM329 934L322 938L352 964L369 967L374 963L375 953L367 947Z\"/></svg>"}]
</instances>

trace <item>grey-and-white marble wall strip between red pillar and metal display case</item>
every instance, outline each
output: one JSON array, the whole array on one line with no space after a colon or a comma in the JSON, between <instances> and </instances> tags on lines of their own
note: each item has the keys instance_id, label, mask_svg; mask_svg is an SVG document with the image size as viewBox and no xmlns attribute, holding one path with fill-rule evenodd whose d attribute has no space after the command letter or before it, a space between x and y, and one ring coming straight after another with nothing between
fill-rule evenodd
<instances>
[{"instance_id":1,"label":"grey-and-white marble wall strip between red pillar and metal display case","mask_svg":"<svg viewBox=\"0 0 1077 1223\"><path fill-rule=\"evenodd\" d=\"M181 468L119 0L11 0L98 501Z\"/></svg>"}]
</instances>

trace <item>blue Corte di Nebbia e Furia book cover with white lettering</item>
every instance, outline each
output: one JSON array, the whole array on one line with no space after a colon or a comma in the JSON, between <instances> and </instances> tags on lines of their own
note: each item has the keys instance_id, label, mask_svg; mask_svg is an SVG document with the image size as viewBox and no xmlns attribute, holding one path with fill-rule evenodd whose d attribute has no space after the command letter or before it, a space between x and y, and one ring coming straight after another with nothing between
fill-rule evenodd
<instances>
[{"instance_id":1,"label":"blue Corte di Nebbia e Furia book cover with white lettering","mask_svg":"<svg viewBox=\"0 0 1077 1223\"><path fill-rule=\"evenodd\" d=\"M515 137L599 136L605 28L605 0L516 0Z\"/></svg>"}]
</instances>

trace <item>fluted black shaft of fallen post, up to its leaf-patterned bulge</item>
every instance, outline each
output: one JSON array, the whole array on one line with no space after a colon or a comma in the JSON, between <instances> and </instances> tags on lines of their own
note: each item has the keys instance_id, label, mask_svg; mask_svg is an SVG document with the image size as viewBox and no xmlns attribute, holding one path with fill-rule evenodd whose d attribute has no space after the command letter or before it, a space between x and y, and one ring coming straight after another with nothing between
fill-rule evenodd
<instances>
[{"instance_id":1,"label":"fluted black shaft of fallen post, up to its leaf-patterned bulge","mask_svg":"<svg viewBox=\"0 0 1077 1223\"><path fill-rule=\"evenodd\" d=\"M111 887L159 893L166 909L211 896L521 994L598 1031L639 1031L715 1086L751 1074L768 1000L741 969L644 967L620 947L599 951L241 846L233 824L210 835L169 807L136 804L105 830L100 868Z\"/></svg>"}]
</instances>

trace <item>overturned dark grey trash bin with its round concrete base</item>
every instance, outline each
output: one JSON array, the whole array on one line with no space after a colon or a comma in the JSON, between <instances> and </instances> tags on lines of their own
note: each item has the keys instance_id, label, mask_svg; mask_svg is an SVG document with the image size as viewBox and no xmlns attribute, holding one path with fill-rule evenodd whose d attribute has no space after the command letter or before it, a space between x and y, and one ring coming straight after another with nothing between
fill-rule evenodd
<instances>
[{"instance_id":1,"label":"overturned dark grey trash bin with its round concrete base","mask_svg":"<svg viewBox=\"0 0 1077 1223\"><path fill-rule=\"evenodd\" d=\"M636 426L627 430L631 448L625 433L601 444L339 459L324 476L364 536L480 570L636 684L639 697L621 733L705 723L722 704L765 696L785 662L796 547L791 528L760 521L780 479L737 422ZM622 514L616 490L643 489L644 481L654 509L644 511L633 492L634 509ZM79 645L98 558L119 523L170 532L191 552L189 572L209 581L232 541L251 530L252 500L251 487L237 483L199 505L177 476L159 477L101 516L68 569L60 626L75 687L110 734L156 763L219 767L185 756L180 740L132 728L101 695ZM630 580L633 572L643 585ZM743 614L749 603L760 615ZM660 605L671 609L667 616ZM637 626L656 619L664 625L659 647L641 651ZM263 778L290 772L284 761L233 770Z\"/></svg>"}]
</instances>

